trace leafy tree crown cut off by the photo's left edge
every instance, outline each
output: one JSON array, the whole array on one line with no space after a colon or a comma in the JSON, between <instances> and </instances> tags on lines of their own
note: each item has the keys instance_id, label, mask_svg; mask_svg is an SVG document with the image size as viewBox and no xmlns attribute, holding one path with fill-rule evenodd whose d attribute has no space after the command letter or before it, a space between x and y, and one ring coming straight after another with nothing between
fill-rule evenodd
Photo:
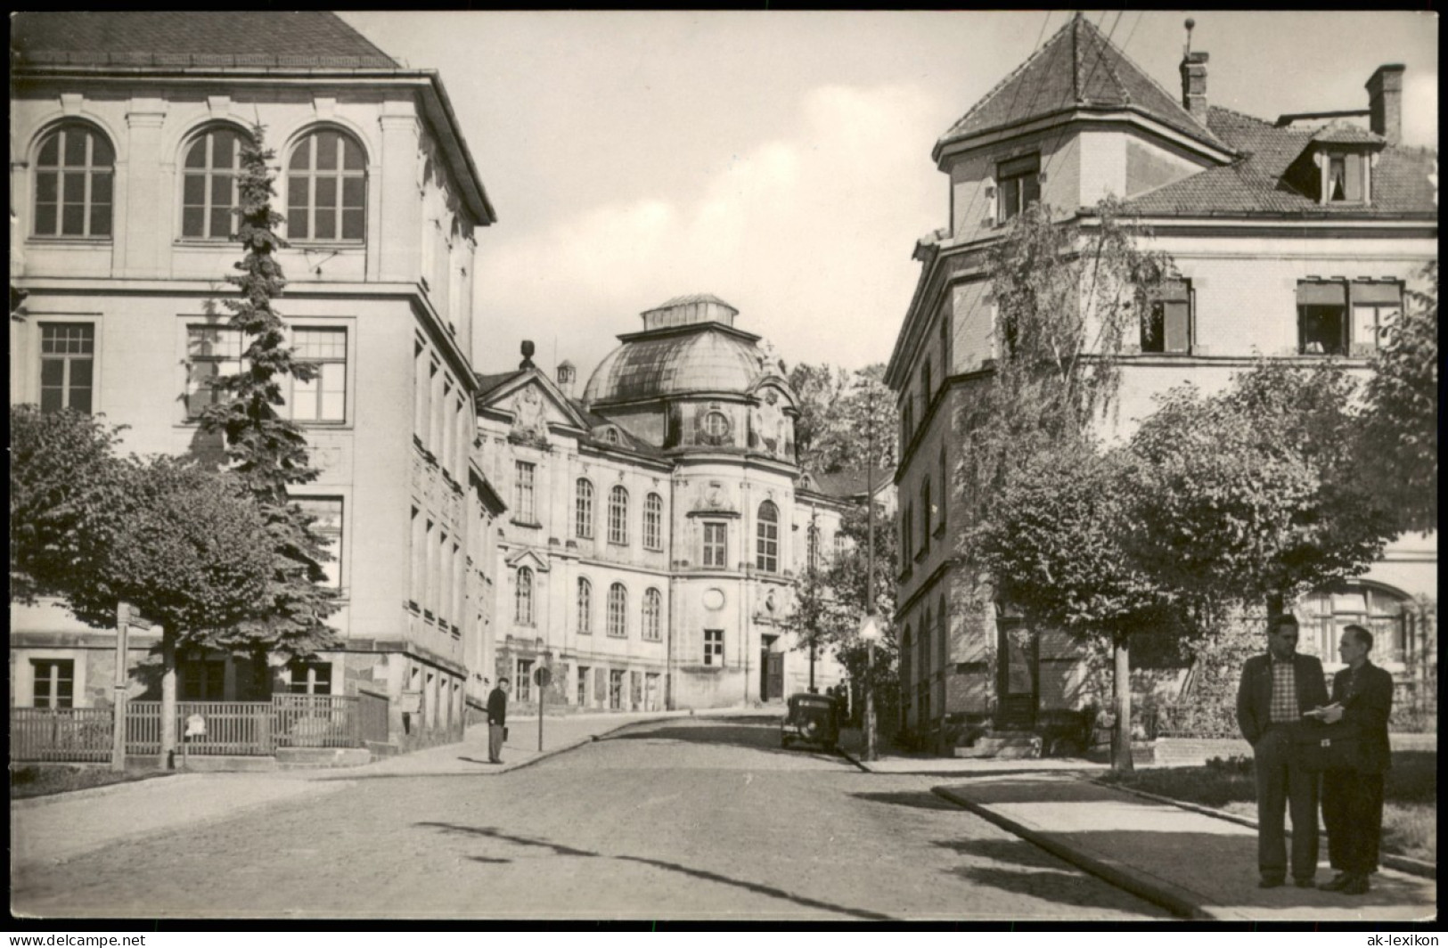
<instances>
[{"instance_id":1,"label":"leafy tree crown cut off by the photo's left edge","mask_svg":"<svg viewBox=\"0 0 1448 948\"><path fill-rule=\"evenodd\" d=\"M100 556L103 514L125 489L123 430L80 411L10 407L10 602L64 595Z\"/></svg>"}]
</instances>

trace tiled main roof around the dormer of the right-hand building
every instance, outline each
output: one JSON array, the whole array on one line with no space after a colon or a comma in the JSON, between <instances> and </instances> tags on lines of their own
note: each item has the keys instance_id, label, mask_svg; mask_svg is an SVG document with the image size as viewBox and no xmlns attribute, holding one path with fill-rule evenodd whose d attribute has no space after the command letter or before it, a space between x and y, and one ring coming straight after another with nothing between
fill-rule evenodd
<instances>
[{"instance_id":1,"label":"tiled main roof around the dormer of the right-hand building","mask_svg":"<svg viewBox=\"0 0 1448 948\"><path fill-rule=\"evenodd\" d=\"M1431 151L1387 146L1373 165L1370 204L1319 204L1313 197L1287 184L1284 175L1313 140L1339 139L1315 137L1316 133L1312 130L1280 129L1216 106L1208 110L1208 124L1228 148L1242 156L1231 165L1200 171L1132 198L1125 203L1125 213L1163 217L1211 214L1394 217L1438 211L1436 188L1429 179L1429 175L1435 174L1435 155ZM1363 136L1371 135L1360 129L1354 132ZM1373 139L1354 136L1350 140Z\"/></svg>"}]
</instances>

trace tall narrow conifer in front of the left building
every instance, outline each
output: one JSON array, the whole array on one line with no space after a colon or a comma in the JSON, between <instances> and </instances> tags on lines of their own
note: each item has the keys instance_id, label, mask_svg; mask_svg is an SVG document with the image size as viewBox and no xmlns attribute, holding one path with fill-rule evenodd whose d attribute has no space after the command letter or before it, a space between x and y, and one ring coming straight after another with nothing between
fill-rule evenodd
<instances>
[{"instance_id":1,"label":"tall narrow conifer in front of the left building","mask_svg":"<svg viewBox=\"0 0 1448 948\"><path fill-rule=\"evenodd\" d=\"M290 486L317 478L301 427L277 410L285 404L282 382L316 378L313 363L300 362L285 344L285 324L272 305L287 285L277 250L285 242L275 226L282 217L272 208L272 177L268 162L275 152L265 146L265 130L256 126L242 146L240 229L236 239L246 253L227 276L240 298L226 300L229 326L248 340L242 371L217 381L229 398L210 405L201 428L226 437L232 470L256 498L265 533L275 551L272 579L253 615L229 628L216 628L207 644L236 654L251 654L258 674L266 669L266 653L306 657L333 647L336 635L326 619L337 609L337 593L319 585L321 563L330 559L313 518L288 499Z\"/></svg>"}]
</instances>

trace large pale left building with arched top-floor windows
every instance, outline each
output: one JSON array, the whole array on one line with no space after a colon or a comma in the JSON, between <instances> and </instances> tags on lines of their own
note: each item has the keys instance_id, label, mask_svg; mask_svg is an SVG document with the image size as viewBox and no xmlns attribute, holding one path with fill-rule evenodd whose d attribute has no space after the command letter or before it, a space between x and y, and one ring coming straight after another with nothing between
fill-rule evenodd
<instances>
[{"instance_id":1,"label":"large pale left building with arched top-floor windows","mask_svg":"<svg viewBox=\"0 0 1448 948\"><path fill-rule=\"evenodd\" d=\"M275 151L279 310L342 592L342 646L272 687L388 701L401 748L462 734L502 502L473 450L475 230L494 220L436 72L329 13L29 13L12 22L10 401L126 424L125 449L213 453L198 412L239 371L224 282L240 143ZM107 699L109 632L10 614L13 705ZM145 657L140 637L130 659ZM180 698L252 699L243 660L187 654ZM132 690L153 685L142 669Z\"/></svg>"}]
</instances>

